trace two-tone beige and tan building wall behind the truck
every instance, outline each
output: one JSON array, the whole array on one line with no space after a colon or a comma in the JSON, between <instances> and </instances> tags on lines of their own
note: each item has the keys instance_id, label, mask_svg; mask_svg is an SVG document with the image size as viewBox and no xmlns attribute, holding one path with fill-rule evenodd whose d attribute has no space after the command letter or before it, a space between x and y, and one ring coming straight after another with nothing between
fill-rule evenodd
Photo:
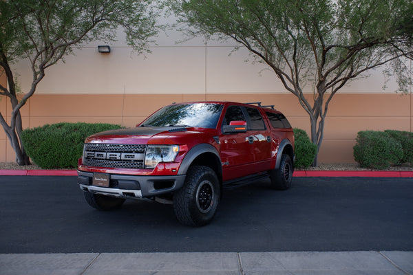
<instances>
[{"instance_id":1,"label":"two-tone beige and tan building wall behind the truck","mask_svg":"<svg viewBox=\"0 0 413 275\"><path fill-rule=\"evenodd\" d=\"M100 54L97 42L67 56L65 63L47 69L35 95L21 110L23 127L55 122L109 122L135 126L156 109L171 102L231 100L274 104L294 127L308 133L310 122L295 96L275 74L235 45L202 39L176 44L181 38L162 34L151 53L138 56L120 41L112 52ZM246 62L247 61L247 62ZM27 91L32 74L27 61L14 67L21 90ZM0 79L0 81L5 81ZM379 70L350 83L330 103L319 162L354 162L352 146L358 131L396 129L412 131L412 94L383 90ZM306 87L311 98L311 86ZM10 104L0 98L0 111L10 120ZM6 134L0 130L0 162L14 162Z\"/></svg>"}]
</instances>

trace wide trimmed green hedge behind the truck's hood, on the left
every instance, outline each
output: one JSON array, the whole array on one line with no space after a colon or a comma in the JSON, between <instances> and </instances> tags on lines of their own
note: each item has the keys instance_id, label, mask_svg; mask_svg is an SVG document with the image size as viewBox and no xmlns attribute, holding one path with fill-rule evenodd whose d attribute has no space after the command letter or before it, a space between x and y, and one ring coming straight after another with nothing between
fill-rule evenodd
<instances>
[{"instance_id":1,"label":"wide trimmed green hedge behind the truck's hood, on the left","mask_svg":"<svg viewBox=\"0 0 413 275\"><path fill-rule=\"evenodd\" d=\"M21 140L28 156L41 168L74 168L87 136L119 128L115 124L61 122L25 129Z\"/></svg>"}]
</instances>

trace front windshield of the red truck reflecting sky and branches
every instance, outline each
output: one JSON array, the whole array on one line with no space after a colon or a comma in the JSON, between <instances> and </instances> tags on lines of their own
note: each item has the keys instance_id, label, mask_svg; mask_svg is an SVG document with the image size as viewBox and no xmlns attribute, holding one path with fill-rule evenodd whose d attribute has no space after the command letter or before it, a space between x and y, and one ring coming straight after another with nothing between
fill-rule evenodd
<instances>
[{"instance_id":1,"label":"front windshield of the red truck reflecting sky and branches","mask_svg":"<svg viewBox=\"0 0 413 275\"><path fill-rule=\"evenodd\" d=\"M222 104L172 104L153 113L141 126L191 126L215 128L220 119Z\"/></svg>"}]
</instances>

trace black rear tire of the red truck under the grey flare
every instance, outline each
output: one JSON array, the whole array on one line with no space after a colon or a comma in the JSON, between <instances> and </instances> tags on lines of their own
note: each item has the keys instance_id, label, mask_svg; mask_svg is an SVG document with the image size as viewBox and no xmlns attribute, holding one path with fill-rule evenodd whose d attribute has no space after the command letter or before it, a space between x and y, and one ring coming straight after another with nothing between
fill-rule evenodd
<instances>
[{"instance_id":1,"label":"black rear tire of the red truck under the grey flare","mask_svg":"<svg viewBox=\"0 0 413 275\"><path fill-rule=\"evenodd\" d=\"M271 170L271 187L277 190L287 190L293 181L294 166L289 155L283 154L278 169Z\"/></svg>"}]
</instances>

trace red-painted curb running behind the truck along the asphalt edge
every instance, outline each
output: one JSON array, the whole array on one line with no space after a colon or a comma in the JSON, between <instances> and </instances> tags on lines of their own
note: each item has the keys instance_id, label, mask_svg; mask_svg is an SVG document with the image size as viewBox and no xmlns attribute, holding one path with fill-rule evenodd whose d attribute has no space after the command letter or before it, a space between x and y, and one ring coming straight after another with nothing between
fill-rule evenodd
<instances>
[{"instance_id":1,"label":"red-painted curb running behind the truck along the asphalt edge","mask_svg":"<svg viewBox=\"0 0 413 275\"><path fill-rule=\"evenodd\" d=\"M76 170L0 170L2 176L77 176ZM298 170L294 177L413 177L413 171Z\"/></svg>"}]
</instances>

